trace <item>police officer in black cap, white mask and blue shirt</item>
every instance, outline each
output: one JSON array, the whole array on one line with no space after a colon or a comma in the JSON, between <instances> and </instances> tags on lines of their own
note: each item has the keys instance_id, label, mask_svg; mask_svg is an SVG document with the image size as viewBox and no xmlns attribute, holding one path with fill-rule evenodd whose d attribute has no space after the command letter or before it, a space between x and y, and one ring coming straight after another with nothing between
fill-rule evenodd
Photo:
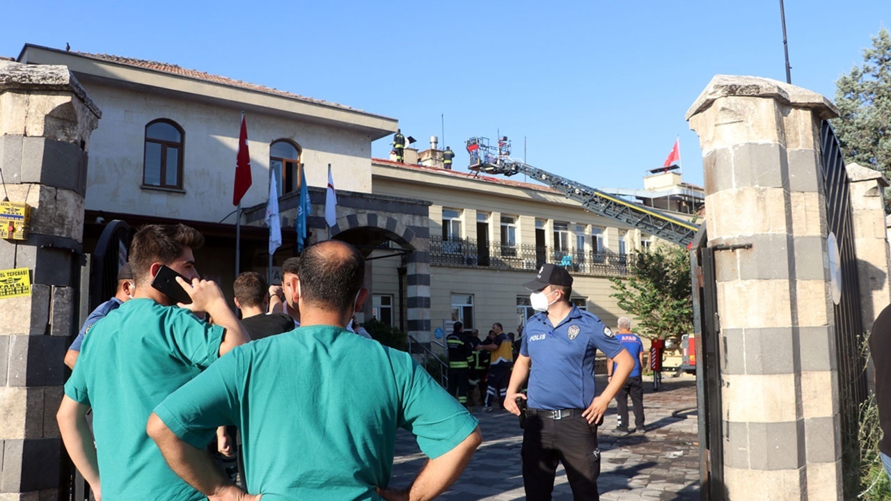
<instances>
[{"instance_id":1,"label":"police officer in black cap, white mask and blue shirt","mask_svg":"<svg viewBox=\"0 0 891 501\"><path fill-rule=\"evenodd\" d=\"M599 500L597 477L601 451L597 426L618 389L634 368L634 359L597 316L570 302L572 276L563 267L545 264L535 280L523 284L531 316L514 363L504 407L519 415L516 399L527 400L520 452L528 501L551 499L554 473L562 462L573 498ZM601 395L594 397L594 357L600 349L616 368ZM531 377L530 365L535 366ZM528 398L519 393L529 378Z\"/></svg>"}]
</instances>

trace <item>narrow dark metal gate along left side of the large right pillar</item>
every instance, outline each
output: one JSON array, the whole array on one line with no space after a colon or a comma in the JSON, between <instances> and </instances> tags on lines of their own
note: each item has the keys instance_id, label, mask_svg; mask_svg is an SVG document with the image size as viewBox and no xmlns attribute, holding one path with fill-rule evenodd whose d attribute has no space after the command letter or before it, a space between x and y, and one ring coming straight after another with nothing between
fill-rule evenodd
<instances>
[{"instance_id":1,"label":"narrow dark metal gate along left side of the large right pillar","mask_svg":"<svg viewBox=\"0 0 891 501\"><path fill-rule=\"evenodd\" d=\"M703 223L693 240L693 325L696 333L696 393L699 415L699 499L723 500L720 325L715 285L715 250L705 247Z\"/></svg>"}]
</instances>

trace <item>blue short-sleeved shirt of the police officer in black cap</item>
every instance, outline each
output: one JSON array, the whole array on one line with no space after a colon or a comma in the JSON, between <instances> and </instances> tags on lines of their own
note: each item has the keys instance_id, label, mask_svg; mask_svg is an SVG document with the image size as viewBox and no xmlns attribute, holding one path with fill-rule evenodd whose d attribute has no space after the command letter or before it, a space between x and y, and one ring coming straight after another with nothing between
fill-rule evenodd
<instances>
[{"instance_id":1,"label":"blue short-sleeved shirt of the police officer in black cap","mask_svg":"<svg viewBox=\"0 0 891 501\"><path fill-rule=\"evenodd\" d=\"M594 399L594 357L616 357L622 344L597 316L573 306L552 326L547 312L529 317L519 353L531 358L529 407L584 409Z\"/></svg>"}]
</instances>

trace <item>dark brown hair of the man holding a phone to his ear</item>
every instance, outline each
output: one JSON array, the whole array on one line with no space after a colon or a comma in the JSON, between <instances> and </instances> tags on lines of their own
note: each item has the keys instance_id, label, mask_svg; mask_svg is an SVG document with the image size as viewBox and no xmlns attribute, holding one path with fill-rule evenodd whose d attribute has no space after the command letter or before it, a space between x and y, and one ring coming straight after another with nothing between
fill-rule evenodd
<instances>
[{"instance_id":1,"label":"dark brown hair of the man holding a phone to his ear","mask_svg":"<svg viewBox=\"0 0 891 501\"><path fill-rule=\"evenodd\" d=\"M151 263L168 265L183 254L204 245L204 236L192 226L146 225L133 235L130 242L130 267L136 281L151 273Z\"/></svg>"}]
</instances>

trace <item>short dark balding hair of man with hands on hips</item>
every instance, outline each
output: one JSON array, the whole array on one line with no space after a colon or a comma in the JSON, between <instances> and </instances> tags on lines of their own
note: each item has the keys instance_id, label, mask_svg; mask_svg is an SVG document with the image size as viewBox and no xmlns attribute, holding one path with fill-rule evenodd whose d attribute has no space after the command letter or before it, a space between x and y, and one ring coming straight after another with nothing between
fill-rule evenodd
<instances>
[{"instance_id":1,"label":"short dark balding hair of man with hands on hips","mask_svg":"<svg viewBox=\"0 0 891 501\"><path fill-rule=\"evenodd\" d=\"M326 240L303 251L297 275L305 303L352 312L365 280L365 259L347 242Z\"/></svg>"}]
</instances>

